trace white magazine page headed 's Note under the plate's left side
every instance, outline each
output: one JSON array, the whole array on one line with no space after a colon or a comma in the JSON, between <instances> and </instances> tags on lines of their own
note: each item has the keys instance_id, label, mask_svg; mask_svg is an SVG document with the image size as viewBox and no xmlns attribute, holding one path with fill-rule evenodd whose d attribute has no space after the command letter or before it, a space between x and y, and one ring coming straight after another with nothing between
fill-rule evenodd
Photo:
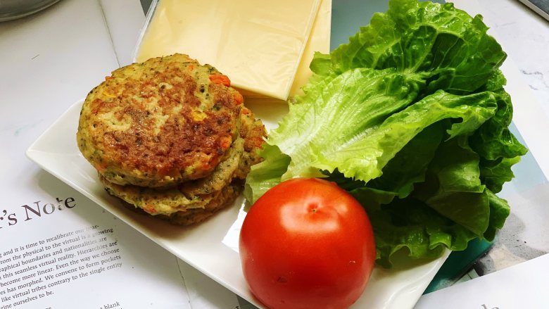
<instances>
[{"instance_id":1,"label":"white magazine page headed 's Note under the plate's left side","mask_svg":"<svg viewBox=\"0 0 549 309\"><path fill-rule=\"evenodd\" d=\"M0 308L190 308L174 256L25 157L118 66L99 1L0 23L0 42Z\"/></svg>"}]
</instances>

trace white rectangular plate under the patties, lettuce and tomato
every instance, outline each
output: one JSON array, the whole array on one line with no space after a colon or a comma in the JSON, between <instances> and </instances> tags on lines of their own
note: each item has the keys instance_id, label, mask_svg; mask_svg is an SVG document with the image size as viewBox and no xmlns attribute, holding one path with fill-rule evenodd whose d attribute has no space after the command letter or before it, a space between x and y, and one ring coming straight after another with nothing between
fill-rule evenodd
<instances>
[{"instance_id":1,"label":"white rectangular plate under the patties, lettuce and tomato","mask_svg":"<svg viewBox=\"0 0 549 309\"><path fill-rule=\"evenodd\" d=\"M267 130L287 111L283 105L246 104L262 119ZM27 157L44 170L80 191L99 206L118 216L178 258L208 275L227 289L261 307L251 295L242 275L239 254L222 243L243 205L244 198L200 225L179 227L135 213L123 207L101 186L76 144L82 101L75 103L27 150ZM365 293L353 308L412 308L447 256L429 263L384 270L376 267Z\"/></svg>"}]
</instances>

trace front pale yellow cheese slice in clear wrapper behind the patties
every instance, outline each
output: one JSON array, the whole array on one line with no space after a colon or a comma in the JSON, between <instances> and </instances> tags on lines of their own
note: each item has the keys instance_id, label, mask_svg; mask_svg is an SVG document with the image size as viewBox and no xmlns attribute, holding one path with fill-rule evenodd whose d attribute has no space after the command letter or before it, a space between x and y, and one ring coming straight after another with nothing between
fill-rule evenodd
<instances>
[{"instance_id":1,"label":"front pale yellow cheese slice in clear wrapper behind the patties","mask_svg":"<svg viewBox=\"0 0 549 309\"><path fill-rule=\"evenodd\" d=\"M232 85L286 100L320 0L160 0L135 60L186 53Z\"/></svg>"}]
</instances>

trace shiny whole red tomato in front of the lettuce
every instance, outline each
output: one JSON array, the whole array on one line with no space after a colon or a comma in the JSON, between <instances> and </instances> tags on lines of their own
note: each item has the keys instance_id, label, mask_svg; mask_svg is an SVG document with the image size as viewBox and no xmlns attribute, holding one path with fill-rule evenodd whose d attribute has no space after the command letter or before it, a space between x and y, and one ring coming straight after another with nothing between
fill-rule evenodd
<instances>
[{"instance_id":1,"label":"shiny whole red tomato in front of the lettuce","mask_svg":"<svg viewBox=\"0 0 549 309\"><path fill-rule=\"evenodd\" d=\"M267 307L348 308L372 274L372 225L332 182L298 178L251 207L239 239L244 278Z\"/></svg>"}]
</instances>

